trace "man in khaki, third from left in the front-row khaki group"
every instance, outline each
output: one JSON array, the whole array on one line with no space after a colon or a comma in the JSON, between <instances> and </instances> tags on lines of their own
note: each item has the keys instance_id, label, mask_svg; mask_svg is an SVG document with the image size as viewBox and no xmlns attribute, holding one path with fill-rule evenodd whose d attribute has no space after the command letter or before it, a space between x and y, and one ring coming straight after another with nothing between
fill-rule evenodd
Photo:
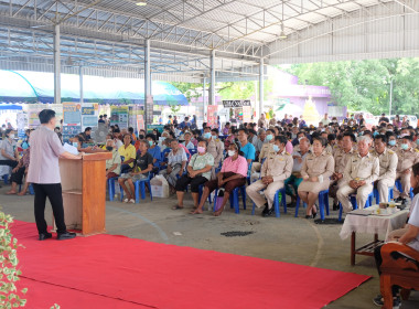
<instances>
[{"instance_id":1,"label":"man in khaki, third from left in the front-row khaki group","mask_svg":"<svg viewBox=\"0 0 419 309\"><path fill-rule=\"evenodd\" d=\"M339 210L337 203L337 190L341 188L343 183L345 183L343 179L343 173L345 171L345 167L347 164L347 160L352 157L352 154L356 153L354 150L354 143L356 142L356 138L351 132L345 132L342 139L342 149L335 151L334 158L334 173L332 174L332 182L329 189L329 196L333 198L333 210Z\"/></svg>"}]
</instances>

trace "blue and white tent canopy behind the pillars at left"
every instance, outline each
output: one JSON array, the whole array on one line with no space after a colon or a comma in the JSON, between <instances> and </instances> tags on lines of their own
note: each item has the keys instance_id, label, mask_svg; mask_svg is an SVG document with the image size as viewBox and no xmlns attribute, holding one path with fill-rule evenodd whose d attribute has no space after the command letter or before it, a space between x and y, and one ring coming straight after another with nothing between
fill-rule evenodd
<instances>
[{"instance_id":1,"label":"blue and white tent canopy behind the pillars at left","mask_svg":"<svg viewBox=\"0 0 419 309\"><path fill-rule=\"evenodd\" d=\"M0 103L54 103L54 74L0 70ZM152 82L155 105L189 105L186 97L173 85ZM144 81L83 76L84 102L99 104L143 104ZM61 75L62 100L79 102L79 77Z\"/></svg>"}]
</instances>

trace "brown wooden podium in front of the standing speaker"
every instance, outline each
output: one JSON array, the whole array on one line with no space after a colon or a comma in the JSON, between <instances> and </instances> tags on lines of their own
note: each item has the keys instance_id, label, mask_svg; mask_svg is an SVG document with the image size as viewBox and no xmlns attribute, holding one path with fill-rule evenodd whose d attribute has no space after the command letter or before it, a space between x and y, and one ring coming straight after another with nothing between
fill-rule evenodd
<instances>
[{"instance_id":1,"label":"brown wooden podium in front of the standing speaker","mask_svg":"<svg viewBox=\"0 0 419 309\"><path fill-rule=\"evenodd\" d=\"M67 230L84 236L106 232L106 160L111 158L111 152L97 152L82 160L60 159Z\"/></svg>"}]
</instances>

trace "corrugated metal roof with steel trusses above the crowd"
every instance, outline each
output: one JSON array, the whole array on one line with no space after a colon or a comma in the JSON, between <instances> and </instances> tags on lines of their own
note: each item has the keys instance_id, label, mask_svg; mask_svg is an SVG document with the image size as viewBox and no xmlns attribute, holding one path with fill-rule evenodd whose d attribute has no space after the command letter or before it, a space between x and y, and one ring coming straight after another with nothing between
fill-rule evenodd
<instances>
[{"instance_id":1,"label":"corrugated metal roof with steel trusses above the crowd","mask_svg":"<svg viewBox=\"0 0 419 309\"><path fill-rule=\"evenodd\" d=\"M62 24L63 57L74 57L76 63L92 66L125 63L123 67L141 71L141 58L136 58L135 53L143 55L143 40L150 39L152 62L160 67L159 73L196 76L207 74L202 62L212 49L221 57L257 64L266 55L261 51L278 40L282 26L292 36L308 26L354 11L378 6L388 10L386 3L397 2L409 11L416 1L147 0L143 7L136 2L0 0L0 56L11 57L15 63L13 51L19 51L26 62L36 57L51 60L52 52L46 45L52 46L52 24L57 19ZM155 56L162 52L171 57ZM237 64L236 68L243 67Z\"/></svg>"}]
</instances>

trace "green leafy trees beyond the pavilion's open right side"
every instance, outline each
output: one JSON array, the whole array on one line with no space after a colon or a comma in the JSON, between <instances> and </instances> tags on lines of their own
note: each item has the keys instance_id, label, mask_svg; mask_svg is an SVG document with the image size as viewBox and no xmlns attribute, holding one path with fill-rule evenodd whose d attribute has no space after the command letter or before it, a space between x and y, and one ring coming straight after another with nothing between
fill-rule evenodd
<instances>
[{"instance_id":1,"label":"green leafy trees beyond the pavilion's open right side","mask_svg":"<svg viewBox=\"0 0 419 309\"><path fill-rule=\"evenodd\" d=\"M337 105L374 115L416 115L419 107L419 58L389 58L296 64L284 71L301 84L329 86Z\"/></svg>"}]
</instances>

